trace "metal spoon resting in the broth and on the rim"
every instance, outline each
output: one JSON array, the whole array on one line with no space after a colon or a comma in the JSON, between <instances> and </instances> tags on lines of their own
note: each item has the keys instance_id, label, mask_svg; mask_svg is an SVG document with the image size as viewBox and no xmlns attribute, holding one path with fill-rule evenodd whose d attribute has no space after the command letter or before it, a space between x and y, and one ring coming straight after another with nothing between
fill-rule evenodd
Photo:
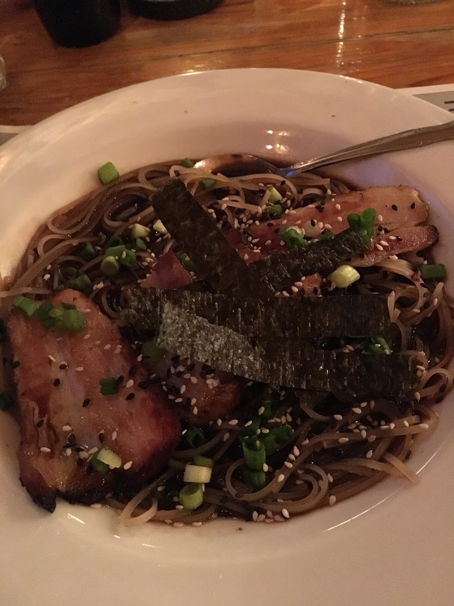
<instances>
[{"instance_id":1,"label":"metal spoon resting in the broth and on the rim","mask_svg":"<svg viewBox=\"0 0 454 606\"><path fill-rule=\"evenodd\" d=\"M224 154L220 156L211 156L197 162L196 168L203 168L211 173L223 173L224 175L239 175L248 173L273 173L283 177L290 177L298 173L304 173L307 170L314 170L336 164L345 160L355 158L367 158L389 151L402 151L432 145L441 141L454 139L454 121L436 126L426 126L423 128L412 128L404 130L395 135L373 139L359 145L352 145L340 151L319 156L306 162L298 162L291 166L279 168L271 162L262 158L257 158L250 154Z\"/></svg>"}]
</instances>

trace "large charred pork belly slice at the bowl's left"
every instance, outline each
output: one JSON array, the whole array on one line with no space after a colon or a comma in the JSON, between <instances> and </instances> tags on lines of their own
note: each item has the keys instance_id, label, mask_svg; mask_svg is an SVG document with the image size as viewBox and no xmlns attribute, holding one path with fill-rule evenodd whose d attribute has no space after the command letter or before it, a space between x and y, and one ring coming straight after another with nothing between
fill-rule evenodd
<instances>
[{"instance_id":1,"label":"large charred pork belly slice at the bowl's left","mask_svg":"<svg viewBox=\"0 0 454 606\"><path fill-rule=\"evenodd\" d=\"M19 362L21 482L48 511L58 494L90 504L110 490L139 486L166 464L180 438L168 404L139 387L148 375L116 325L77 291L64 290L51 302L76 305L85 315L85 330L58 335L17 310L8 321ZM117 395L103 396L100 379L120 376ZM103 445L127 469L93 471L89 453Z\"/></svg>"}]
</instances>

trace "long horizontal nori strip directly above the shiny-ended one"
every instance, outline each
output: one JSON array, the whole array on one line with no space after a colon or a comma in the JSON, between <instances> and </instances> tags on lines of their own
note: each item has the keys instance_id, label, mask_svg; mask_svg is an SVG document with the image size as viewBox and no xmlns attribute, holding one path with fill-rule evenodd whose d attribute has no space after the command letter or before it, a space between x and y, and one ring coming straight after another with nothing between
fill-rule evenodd
<instances>
[{"instance_id":1,"label":"long horizontal nori strip directly above the shiny-ended one","mask_svg":"<svg viewBox=\"0 0 454 606\"><path fill-rule=\"evenodd\" d=\"M386 337L391 333L387 298L383 295L255 299L137 287L131 293L128 308L123 311L123 322L139 332L152 333L159 326L166 301L211 324L254 337L307 340L332 336Z\"/></svg>"}]
</instances>

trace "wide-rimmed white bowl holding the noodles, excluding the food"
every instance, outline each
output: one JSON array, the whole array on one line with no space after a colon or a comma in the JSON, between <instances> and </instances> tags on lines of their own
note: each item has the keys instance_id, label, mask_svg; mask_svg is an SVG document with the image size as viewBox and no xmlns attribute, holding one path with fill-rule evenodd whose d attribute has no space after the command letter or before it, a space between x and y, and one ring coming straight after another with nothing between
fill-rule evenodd
<instances>
[{"instance_id":1,"label":"wide-rimmed white bowl holding the noodles, excluding the food","mask_svg":"<svg viewBox=\"0 0 454 606\"><path fill-rule=\"evenodd\" d=\"M125 172L226 151L292 161L448 119L388 88L292 70L197 73L108 93L0 147L0 271L13 267L52 211L96 187L104 162ZM361 187L418 188L441 233L437 259L451 272L453 151L446 142L335 168ZM454 556L452 404L447 396L440 427L413 450L418 487L389 479L285 524L180 529L120 529L108 510L64 502L51 515L39 510L19 484L15 423L1 415L2 603L450 604L453 578L438 558Z\"/></svg>"}]
</instances>

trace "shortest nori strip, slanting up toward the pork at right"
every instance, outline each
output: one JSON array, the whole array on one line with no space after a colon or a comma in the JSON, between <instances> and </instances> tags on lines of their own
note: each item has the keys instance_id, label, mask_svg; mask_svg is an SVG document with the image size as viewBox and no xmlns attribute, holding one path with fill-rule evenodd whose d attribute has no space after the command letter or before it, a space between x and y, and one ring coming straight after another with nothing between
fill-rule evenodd
<instances>
[{"instance_id":1,"label":"shortest nori strip, slanting up toward the pork at right","mask_svg":"<svg viewBox=\"0 0 454 606\"><path fill-rule=\"evenodd\" d=\"M361 237L347 229L334 238L258 259L252 267L271 288L281 291L291 287L302 276L331 273L339 265L363 255L365 251L366 245Z\"/></svg>"}]
</instances>

